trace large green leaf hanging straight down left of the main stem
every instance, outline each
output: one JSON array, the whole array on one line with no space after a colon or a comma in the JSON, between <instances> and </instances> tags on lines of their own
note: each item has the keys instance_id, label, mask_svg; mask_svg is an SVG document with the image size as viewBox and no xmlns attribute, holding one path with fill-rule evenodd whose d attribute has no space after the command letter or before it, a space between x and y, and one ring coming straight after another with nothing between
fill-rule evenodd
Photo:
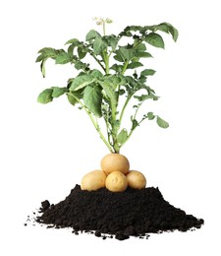
<instances>
[{"instance_id":1,"label":"large green leaf hanging straight down left of the main stem","mask_svg":"<svg viewBox=\"0 0 221 256\"><path fill-rule=\"evenodd\" d=\"M102 116L102 88L99 86L88 86L83 91L83 102L89 111L94 113L97 117Z\"/></svg>"}]
</instances>

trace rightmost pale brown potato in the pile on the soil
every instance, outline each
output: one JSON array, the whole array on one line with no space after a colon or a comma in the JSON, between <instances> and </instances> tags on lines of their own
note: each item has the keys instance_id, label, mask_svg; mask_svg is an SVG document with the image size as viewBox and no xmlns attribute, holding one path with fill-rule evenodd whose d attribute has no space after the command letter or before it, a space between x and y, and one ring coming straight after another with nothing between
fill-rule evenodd
<instances>
[{"instance_id":1,"label":"rightmost pale brown potato in the pile on the soil","mask_svg":"<svg viewBox=\"0 0 221 256\"><path fill-rule=\"evenodd\" d=\"M138 170L130 170L126 177L131 188L142 189L146 185L145 176Z\"/></svg>"}]
</instances>

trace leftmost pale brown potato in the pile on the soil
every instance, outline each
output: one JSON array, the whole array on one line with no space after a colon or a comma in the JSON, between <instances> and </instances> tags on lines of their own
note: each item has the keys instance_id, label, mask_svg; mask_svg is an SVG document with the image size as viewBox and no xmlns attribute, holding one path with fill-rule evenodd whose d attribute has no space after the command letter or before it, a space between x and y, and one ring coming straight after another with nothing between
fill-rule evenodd
<instances>
[{"instance_id":1,"label":"leftmost pale brown potato in the pile on the soil","mask_svg":"<svg viewBox=\"0 0 221 256\"><path fill-rule=\"evenodd\" d=\"M90 171L83 176L81 188L82 190L92 191L105 187L106 177L107 175L103 170Z\"/></svg>"}]
</instances>

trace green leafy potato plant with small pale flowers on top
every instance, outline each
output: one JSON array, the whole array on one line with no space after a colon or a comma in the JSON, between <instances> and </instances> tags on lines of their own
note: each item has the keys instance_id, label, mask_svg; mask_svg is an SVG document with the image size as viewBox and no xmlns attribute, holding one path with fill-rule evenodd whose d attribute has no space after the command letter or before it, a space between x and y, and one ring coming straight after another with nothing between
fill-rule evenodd
<instances>
[{"instance_id":1,"label":"green leafy potato plant with small pale flowers on top","mask_svg":"<svg viewBox=\"0 0 221 256\"><path fill-rule=\"evenodd\" d=\"M144 112L138 119L143 102L159 98L147 85L148 77L153 76L155 71L143 68L141 61L152 57L148 45L164 48L161 32L171 34L176 41L178 31L169 23L161 23L154 26L129 26L118 34L106 34L105 25L111 21L96 19L96 23L103 27L103 34L91 30L86 33L85 41L77 38L68 40L65 44L67 49L45 47L38 51L36 62L40 62L43 77L47 59L53 59L55 64L71 64L78 74L68 79L64 87L44 90L37 100L48 103L59 96L67 96L72 105L85 111L109 151L120 153L144 120L155 119L161 128L169 126L151 111ZM98 68L84 62L88 57L95 60ZM134 103L133 98L137 103ZM131 126L122 127L125 110L130 102L133 102ZM100 128L101 119L106 131Z\"/></svg>"}]
</instances>

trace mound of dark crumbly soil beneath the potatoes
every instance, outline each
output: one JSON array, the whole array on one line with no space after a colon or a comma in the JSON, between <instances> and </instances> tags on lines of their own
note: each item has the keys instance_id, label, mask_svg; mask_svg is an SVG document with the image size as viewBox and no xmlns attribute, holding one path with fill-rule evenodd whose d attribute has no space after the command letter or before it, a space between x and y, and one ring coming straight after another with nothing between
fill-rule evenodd
<instances>
[{"instance_id":1,"label":"mound of dark crumbly soil beneath the potatoes","mask_svg":"<svg viewBox=\"0 0 221 256\"><path fill-rule=\"evenodd\" d=\"M158 188L113 193L105 188L83 191L79 185L62 202L41 203L36 222L53 227L72 227L103 238L124 240L130 236L148 237L148 233L187 231L199 228L204 221L187 215L163 199Z\"/></svg>"}]
</instances>

